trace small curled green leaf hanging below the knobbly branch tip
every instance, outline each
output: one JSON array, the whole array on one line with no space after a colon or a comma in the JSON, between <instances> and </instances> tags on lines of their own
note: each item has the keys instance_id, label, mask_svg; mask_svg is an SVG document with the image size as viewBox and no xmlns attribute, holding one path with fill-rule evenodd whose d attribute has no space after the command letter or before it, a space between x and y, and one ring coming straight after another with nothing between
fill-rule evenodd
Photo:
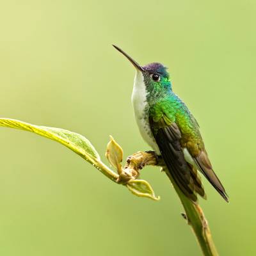
<instances>
[{"instance_id":1,"label":"small curled green leaf hanging below the knobbly branch tip","mask_svg":"<svg viewBox=\"0 0 256 256\"><path fill-rule=\"evenodd\" d=\"M153 200L160 199L159 196L155 195L152 187L146 180L129 180L126 186L134 195L148 197Z\"/></svg>"}]
</instances>

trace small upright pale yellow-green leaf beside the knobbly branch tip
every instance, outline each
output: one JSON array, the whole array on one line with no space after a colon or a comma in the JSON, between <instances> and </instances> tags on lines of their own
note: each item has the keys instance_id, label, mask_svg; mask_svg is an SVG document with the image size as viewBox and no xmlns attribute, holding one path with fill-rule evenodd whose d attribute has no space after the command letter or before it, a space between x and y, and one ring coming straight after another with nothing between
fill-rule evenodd
<instances>
[{"instance_id":1,"label":"small upright pale yellow-green leaf beside the knobbly branch tip","mask_svg":"<svg viewBox=\"0 0 256 256\"><path fill-rule=\"evenodd\" d=\"M122 171L122 161L123 161L123 150L116 143L112 136L110 136L110 141L107 145L107 150L105 156L107 157L109 163L117 170L120 175Z\"/></svg>"}]
</instances>

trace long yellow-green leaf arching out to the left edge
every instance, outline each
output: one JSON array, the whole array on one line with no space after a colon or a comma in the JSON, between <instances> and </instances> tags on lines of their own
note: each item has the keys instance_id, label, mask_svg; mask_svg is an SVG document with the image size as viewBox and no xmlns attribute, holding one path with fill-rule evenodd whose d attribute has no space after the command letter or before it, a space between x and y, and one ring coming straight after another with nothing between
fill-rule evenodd
<instances>
[{"instance_id":1,"label":"long yellow-green leaf arching out to the left edge","mask_svg":"<svg viewBox=\"0 0 256 256\"><path fill-rule=\"evenodd\" d=\"M95 164L95 161L100 161L100 156L92 143L76 132L70 132L60 128L28 124L10 118L0 118L0 126L34 132L40 136L58 141L79 154L79 156L83 157L89 163Z\"/></svg>"}]
</instances>

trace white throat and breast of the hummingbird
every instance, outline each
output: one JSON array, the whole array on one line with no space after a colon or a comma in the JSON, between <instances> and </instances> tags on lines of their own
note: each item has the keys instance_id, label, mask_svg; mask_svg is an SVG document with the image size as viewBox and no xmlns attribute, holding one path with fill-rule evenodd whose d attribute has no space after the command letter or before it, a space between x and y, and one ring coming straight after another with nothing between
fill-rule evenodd
<instances>
[{"instance_id":1,"label":"white throat and breast of the hummingbird","mask_svg":"<svg viewBox=\"0 0 256 256\"><path fill-rule=\"evenodd\" d=\"M157 154L160 154L159 148L153 137L148 124L147 116L147 92L144 84L144 77L140 71L136 71L134 86L132 90L132 105L136 122L140 129L142 138L152 147ZM146 111L145 111L146 110Z\"/></svg>"}]
</instances>

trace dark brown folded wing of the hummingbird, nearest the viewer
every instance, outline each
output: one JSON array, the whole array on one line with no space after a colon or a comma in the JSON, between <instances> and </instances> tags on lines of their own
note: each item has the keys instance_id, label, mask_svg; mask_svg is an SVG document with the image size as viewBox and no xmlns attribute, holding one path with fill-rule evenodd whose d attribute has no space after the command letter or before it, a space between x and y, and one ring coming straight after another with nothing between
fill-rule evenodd
<instances>
[{"instance_id":1,"label":"dark brown folded wing of the hummingbird, nearest the viewer","mask_svg":"<svg viewBox=\"0 0 256 256\"><path fill-rule=\"evenodd\" d=\"M149 121L164 162L177 186L193 202L197 201L196 193L205 197L204 188L196 169L185 160L177 124L175 122L166 124L164 117L157 123L152 118Z\"/></svg>"}]
</instances>

